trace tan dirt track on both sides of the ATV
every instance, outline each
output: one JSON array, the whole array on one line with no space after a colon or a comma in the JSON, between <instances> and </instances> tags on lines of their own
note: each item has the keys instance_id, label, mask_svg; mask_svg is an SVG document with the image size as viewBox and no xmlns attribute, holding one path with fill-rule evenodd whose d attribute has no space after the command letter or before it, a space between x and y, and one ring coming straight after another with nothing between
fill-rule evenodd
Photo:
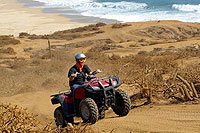
<instances>
[{"instance_id":1,"label":"tan dirt track on both sides of the ATV","mask_svg":"<svg viewBox=\"0 0 200 133\"><path fill-rule=\"evenodd\" d=\"M53 118L57 107L50 103L49 95L55 91L38 91L0 98L2 102L17 104L38 114L41 120ZM126 117L107 111L106 118L92 126L99 132L183 132L200 131L200 105L141 106L134 108Z\"/></svg>"}]
</instances>

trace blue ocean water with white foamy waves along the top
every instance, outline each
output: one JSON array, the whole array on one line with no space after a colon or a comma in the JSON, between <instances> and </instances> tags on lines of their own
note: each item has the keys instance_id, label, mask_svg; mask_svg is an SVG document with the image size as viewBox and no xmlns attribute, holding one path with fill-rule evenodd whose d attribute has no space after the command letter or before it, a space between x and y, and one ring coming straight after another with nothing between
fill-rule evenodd
<instances>
[{"instance_id":1,"label":"blue ocean water with white foamy waves along the top","mask_svg":"<svg viewBox=\"0 0 200 133\"><path fill-rule=\"evenodd\" d=\"M19 0L20 1L20 0ZM56 9L64 16L77 15L120 22L180 20L200 22L200 0L32 0L33 8ZM67 12L73 10L74 12Z\"/></svg>"}]
</instances>

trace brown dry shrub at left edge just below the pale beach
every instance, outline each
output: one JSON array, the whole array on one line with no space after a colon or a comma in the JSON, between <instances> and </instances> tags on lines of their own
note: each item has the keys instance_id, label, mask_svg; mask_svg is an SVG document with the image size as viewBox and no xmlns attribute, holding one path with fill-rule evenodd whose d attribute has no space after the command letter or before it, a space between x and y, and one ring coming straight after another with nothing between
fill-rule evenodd
<instances>
[{"instance_id":1,"label":"brown dry shrub at left edge just below the pale beach","mask_svg":"<svg viewBox=\"0 0 200 133\"><path fill-rule=\"evenodd\" d=\"M20 41L17 39L14 39L12 36L0 36L0 47L3 47L5 45L9 45L9 44L19 44Z\"/></svg>"}]
</instances>

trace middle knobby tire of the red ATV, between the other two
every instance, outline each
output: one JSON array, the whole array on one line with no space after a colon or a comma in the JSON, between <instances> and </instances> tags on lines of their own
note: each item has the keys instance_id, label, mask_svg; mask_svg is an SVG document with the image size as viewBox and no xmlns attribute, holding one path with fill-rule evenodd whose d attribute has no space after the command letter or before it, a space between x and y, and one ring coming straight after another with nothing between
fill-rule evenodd
<instances>
[{"instance_id":1,"label":"middle knobby tire of the red ATV, between the other two","mask_svg":"<svg viewBox=\"0 0 200 133\"><path fill-rule=\"evenodd\" d=\"M98 107L93 99L85 98L79 105L80 115L84 122L94 124L98 120Z\"/></svg>"}]
</instances>

